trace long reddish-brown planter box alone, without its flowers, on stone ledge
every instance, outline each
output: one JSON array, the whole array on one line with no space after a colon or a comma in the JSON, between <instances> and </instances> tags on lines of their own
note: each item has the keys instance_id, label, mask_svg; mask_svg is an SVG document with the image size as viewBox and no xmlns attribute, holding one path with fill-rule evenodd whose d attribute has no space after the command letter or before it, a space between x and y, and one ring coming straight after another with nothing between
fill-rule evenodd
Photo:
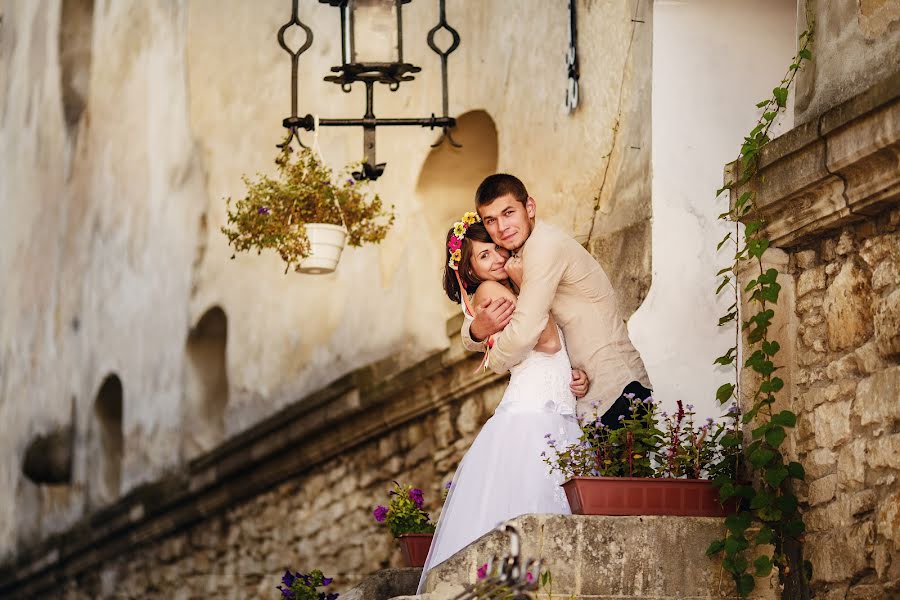
<instances>
[{"instance_id":1,"label":"long reddish-brown planter box alone, without its flowers, on stone ledge","mask_svg":"<svg viewBox=\"0 0 900 600\"><path fill-rule=\"evenodd\" d=\"M733 512L733 503L719 504L718 490L708 479L573 477L562 486L576 515L724 517Z\"/></svg>"}]
</instances>

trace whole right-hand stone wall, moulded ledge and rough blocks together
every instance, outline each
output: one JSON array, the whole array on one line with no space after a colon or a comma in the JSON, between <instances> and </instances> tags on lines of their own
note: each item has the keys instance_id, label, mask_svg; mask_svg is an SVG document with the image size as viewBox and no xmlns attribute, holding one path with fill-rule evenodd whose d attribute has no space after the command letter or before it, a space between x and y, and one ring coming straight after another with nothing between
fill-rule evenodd
<instances>
[{"instance_id":1,"label":"whole right-hand stone wall, moulded ledge and rough blocks together","mask_svg":"<svg viewBox=\"0 0 900 600\"><path fill-rule=\"evenodd\" d=\"M775 408L798 415L785 451L806 470L804 552L828 600L900 593L898 95L894 74L773 140L748 184L782 285Z\"/></svg>"}]
</instances>

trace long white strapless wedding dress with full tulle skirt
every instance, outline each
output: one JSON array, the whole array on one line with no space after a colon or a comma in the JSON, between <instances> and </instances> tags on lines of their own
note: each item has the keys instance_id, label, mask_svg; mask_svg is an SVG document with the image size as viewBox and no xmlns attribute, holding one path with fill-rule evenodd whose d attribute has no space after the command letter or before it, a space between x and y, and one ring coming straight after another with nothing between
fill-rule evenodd
<instances>
[{"instance_id":1,"label":"long white strapless wedding dress with full tulle skirt","mask_svg":"<svg viewBox=\"0 0 900 600\"><path fill-rule=\"evenodd\" d=\"M559 327L557 332L559 352L532 350L510 369L503 399L460 461L417 594L423 592L433 566L507 519L528 513L570 514L561 477L550 474L541 456L549 453L547 434L557 446L574 443L581 435L569 389L572 368Z\"/></svg>"}]
</instances>

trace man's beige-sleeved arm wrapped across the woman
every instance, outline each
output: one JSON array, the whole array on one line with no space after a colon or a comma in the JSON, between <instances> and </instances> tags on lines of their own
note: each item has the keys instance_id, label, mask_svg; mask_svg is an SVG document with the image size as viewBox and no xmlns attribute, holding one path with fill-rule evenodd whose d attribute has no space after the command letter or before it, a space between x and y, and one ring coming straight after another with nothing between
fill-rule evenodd
<instances>
[{"instance_id":1,"label":"man's beige-sleeved arm wrapped across the woman","mask_svg":"<svg viewBox=\"0 0 900 600\"><path fill-rule=\"evenodd\" d=\"M566 270L565 253L555 239L531 239L528 243L516 311L509 325L494 336L488 361L488 366L497 373L522 362L534 348L547 327L550 306Z\"/></svg>"}]
</instances>

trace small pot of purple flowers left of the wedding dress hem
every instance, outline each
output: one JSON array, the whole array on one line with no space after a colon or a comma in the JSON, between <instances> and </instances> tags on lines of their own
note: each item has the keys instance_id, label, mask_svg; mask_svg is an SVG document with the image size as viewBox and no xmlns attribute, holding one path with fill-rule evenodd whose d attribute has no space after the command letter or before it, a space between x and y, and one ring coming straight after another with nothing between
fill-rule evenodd
<instances>
[{"instance_id":1,"label":"small pot of purple flowers left of the wedding dress hem","mask_svg":"<svg viewBox=\"0 0 900 600\"><path fill-rule=\"evenodd\" d=\"M423 567L434 537L434 523L422 510L425 495L422 490L394 482L387 506L376 506L372 511L375 521L387 523L388 529L399 542L403 560L408 567Z\"/></svg>"}]
</instances>

